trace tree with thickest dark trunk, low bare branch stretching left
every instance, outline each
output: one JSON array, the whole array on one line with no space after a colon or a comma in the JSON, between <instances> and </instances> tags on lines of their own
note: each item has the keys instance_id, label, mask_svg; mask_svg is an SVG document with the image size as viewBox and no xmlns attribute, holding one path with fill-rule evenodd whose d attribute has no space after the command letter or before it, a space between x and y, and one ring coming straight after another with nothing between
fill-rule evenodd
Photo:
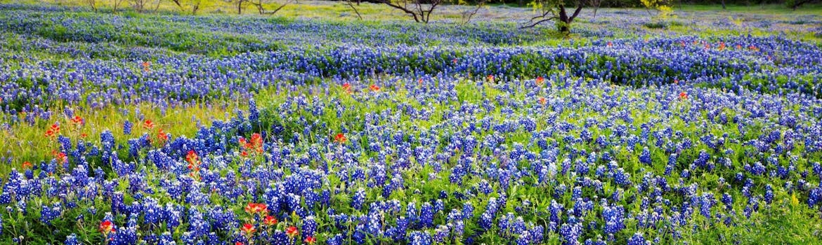
<instances>
[{"instance_id":1,"label":"tree with thickest dark trunk, low bare branch stretching left","mask_svg":"<svg viewBox=\"0 0 822 245\"><path fill-rule=\"evenodd\" d=\"M574 11L569 15L565 0L533 0L529 5L542 14L531 18L522 28L530 28L543 22L554 20L556 29L563 34L568 34L570 32L571 22L574 22L576 16L580 16L580 11L582 11L582 8L585 6L583 0L572 1L574 2L570 3L573 4Z\"/></svg>"}]
</instances>

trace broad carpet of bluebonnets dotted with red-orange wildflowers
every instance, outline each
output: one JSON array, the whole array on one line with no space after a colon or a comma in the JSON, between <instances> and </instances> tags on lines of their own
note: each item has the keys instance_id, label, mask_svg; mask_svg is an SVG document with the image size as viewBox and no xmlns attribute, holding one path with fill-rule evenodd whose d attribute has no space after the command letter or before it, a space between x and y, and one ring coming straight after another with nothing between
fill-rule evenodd
<instances>
[{"instance_id":1,"label":"broad carpet of bluebonnets dotted with red-orange wildflowers","mask_svg":"<svg viewBox=\"0 0 822 245\"><path fill-rule=\"evenodd\" d=\"M822 208L822 49L783 36L0 11L2 129L54 151L3 155L2 242L664 244Z\"/></svg>"}]
</instances>

